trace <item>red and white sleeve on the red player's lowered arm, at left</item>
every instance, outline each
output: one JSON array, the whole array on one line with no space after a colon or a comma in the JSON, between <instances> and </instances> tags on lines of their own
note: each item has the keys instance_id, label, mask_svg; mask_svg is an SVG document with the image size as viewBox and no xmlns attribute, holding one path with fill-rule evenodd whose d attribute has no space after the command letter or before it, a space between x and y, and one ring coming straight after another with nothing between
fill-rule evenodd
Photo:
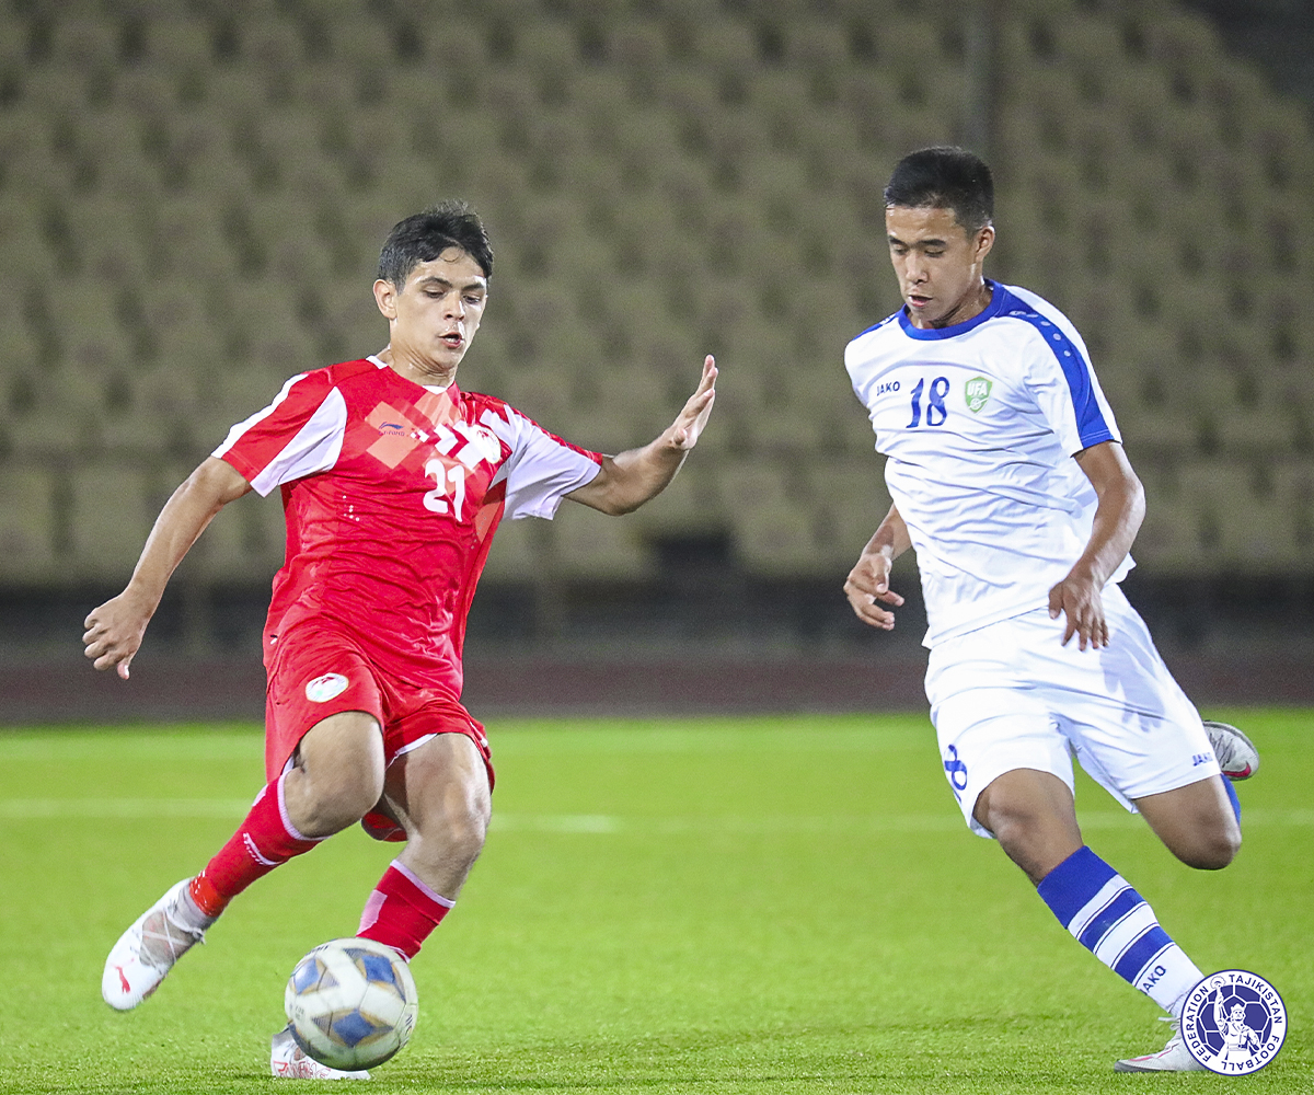
<instances>
[{"instance_id":1,"label":"red and white sleeve on the red player's lowered arm, at left","mask_svg":"<svg viewBox=\"0 0 1314 1095\"><path fill-rule=\"evenodd\" d=\"M261 496L338 463L347 401L323 372L300 373L264 410L239 422L213 455L227 460Z\"/></svg>"}]
</instances>

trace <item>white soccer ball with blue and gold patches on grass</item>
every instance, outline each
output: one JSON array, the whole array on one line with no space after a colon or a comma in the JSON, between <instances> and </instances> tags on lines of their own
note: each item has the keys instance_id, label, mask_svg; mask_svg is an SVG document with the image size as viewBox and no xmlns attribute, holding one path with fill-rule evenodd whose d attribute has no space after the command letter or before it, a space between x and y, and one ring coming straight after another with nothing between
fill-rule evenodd
<instances>
[{"instance_id":1,"label":"white soccer ball with blue and gold patches on grass","mask_svg":"<svg viewBox=\"0 0 1314 1095\"><path fill-rule=\"evenodd\" d=\"M372 939L322 943L288 978L292 1037L330 1069L372 1069L406 1045L419 1000L406 960Z\"/></svg>"}]
</instances>

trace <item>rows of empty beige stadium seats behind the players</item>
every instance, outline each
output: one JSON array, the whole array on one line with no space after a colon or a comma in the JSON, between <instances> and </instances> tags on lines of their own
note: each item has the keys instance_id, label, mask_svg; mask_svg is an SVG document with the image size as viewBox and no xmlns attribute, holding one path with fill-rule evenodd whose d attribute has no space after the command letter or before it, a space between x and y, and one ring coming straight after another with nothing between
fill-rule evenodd
<instances>
[{"instance_id":1,"label":"rows of empty beige stadium seats behind the players","mask_svg":"<svg viewBox=\"0 0 1314 1095\"><path fill-rule=\"evenodd\" d=\"M842 348L897 305L890 166L980 121L962 5L393 11L0 9L0 582L126 576L162 477L382 346L378 245L449 195L497 250L469 386L615 451L723 367L665 500L507 530L490 578L643 580L646 546L710 532L750 573L842 576L884 509ZM992 271L1083 330L1147 484L1142 567L1307 571L1307 113L1169 0L996 11ZM242 506L204 580L275 565L276 502Z\"/></svg>"}]
</instances>

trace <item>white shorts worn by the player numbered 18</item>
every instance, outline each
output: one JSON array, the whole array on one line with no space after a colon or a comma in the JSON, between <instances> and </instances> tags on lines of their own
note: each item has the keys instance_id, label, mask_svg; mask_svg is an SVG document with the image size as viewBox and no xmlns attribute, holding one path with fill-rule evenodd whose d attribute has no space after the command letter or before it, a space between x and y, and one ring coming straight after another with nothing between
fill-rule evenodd
<instances>
[{"instance_id":1,"label":"white shorts worn by the player numbered 18","mask_svg":"<svg viewBox=\"0 0 1314 1095\"><path fill-rule=\"evenodd\" d=\"M1080 651L1046 609L938 643L926 698L945 777L972 832L983 790L1018 768L1074 789L1072 757L1127 810L1218 774L1200 714L1122 590L1104 590L1109 645Z\"/></svg>"}]
</instances>

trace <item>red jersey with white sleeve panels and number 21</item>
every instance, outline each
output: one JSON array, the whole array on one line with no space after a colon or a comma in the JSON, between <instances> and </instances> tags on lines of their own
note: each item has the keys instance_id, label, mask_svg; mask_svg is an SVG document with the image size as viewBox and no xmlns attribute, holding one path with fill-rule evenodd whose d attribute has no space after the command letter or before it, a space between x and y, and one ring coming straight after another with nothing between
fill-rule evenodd
<instances>
[{"instance_id":1,"label":"red jersey with white sleeve panels and number 21","mask_svg":"<svg viewBox=\"0 0 1314 1095\"><path fill-rule=\"evenodd\" d=\"M376 358L292 377L214 456L260 494L283 489L288 551L265 665L281 634L318 622L453 698L498 522L551 518L602 465L502 400L424 388Z\"/></svg>"}]
</instances>

